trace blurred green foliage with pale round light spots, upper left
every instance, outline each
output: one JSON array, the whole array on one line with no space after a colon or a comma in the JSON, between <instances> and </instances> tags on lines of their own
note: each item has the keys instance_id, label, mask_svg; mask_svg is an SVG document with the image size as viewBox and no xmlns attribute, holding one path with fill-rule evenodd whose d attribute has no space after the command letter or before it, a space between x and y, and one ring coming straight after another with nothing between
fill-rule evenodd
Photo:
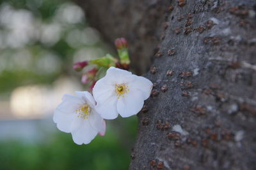
<instances>
[{"instance_id":1,"label":"blurred green foliage with pale round light spots, upper left","mask_svg":"<svg viewBox=\"0 0 256 170\"><path fill-rule=\"evenodd\" d=\"M0 94L76 75L74 62L102 57L106 50L83 10L70 1L0 0ZM42 59L48 63L41 65Z\"/></svg>"}]
</instances>

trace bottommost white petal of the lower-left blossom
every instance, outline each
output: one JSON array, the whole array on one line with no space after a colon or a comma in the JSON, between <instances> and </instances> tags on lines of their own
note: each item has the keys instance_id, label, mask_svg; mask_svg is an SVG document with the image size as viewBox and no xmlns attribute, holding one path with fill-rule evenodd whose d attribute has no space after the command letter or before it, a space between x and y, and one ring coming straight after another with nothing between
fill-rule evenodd
<instances>
[{"instance_id":1,"label":"bottommost white petal of the lower-left blossom","mask_svg":"<svg viewBox=\"0 0 256 170\"><path fill-rule=\"evenodd\" d=\"M71 133L74 143L76 144L88 144L95 138L98 134L94 130L89 122L84 122L81 127L77 128L74 132Z\"/></svg>"}]
</instances>

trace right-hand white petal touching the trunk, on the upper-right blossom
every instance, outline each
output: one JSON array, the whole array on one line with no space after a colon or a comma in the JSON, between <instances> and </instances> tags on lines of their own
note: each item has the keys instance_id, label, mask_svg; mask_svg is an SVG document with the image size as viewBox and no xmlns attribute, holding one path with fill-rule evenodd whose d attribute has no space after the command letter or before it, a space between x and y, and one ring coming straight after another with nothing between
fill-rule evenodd
<instances>
[{"instance_id":1,"label":"right-hand white petal touching the trunk, on the upper-right blossom","mask_svg":"<svg viewBox=\"0 0 256 170\"><path fill-rule=\"evenodd\" d=\"M146 100L148 97L150 97L150 93L153 87L152 82L145 77L137 75L132 76L134 77L134 81L127 83L127 86L129 86L131 90L141 91L143 100Z\"/></svg>"}]
</instances>

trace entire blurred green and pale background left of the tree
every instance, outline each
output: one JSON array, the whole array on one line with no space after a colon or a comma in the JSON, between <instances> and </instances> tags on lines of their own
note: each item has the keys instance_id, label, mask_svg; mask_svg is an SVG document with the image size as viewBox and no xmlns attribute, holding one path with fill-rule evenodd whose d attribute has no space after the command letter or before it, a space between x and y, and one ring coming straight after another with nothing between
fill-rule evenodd
<instances>
[{"instance_id":1,"label":"entire blurred green and pale background left of the tree","mask_svg":"<svg viewBox=\"0 0 256 170\"><path fill-rule=\"evenodd\" d=\"M128 169L136 116L81 146L52 121L62 95L88 87L72 64L106 53L72 1L0 1L0 169Z\"/></svg>"}]
</instances>

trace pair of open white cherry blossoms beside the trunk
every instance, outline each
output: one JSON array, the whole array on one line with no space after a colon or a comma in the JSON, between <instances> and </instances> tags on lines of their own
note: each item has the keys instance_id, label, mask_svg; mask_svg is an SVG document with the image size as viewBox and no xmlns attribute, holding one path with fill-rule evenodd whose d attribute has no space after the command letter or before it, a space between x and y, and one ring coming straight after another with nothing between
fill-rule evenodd
<instances>
[{"instance_id":1,"label":"pair of open white cherry blossoms beside the trunk","mask_svg":"<svg viewBox=\"0 0 256 170\"><path fill-rule=\"evenodd\" d=\"M53 120L61 131L72 134L76 144L88 144L97 134L105 134L104 119L137 114L151 90L148 79L111 66L106 76L96 82L93 95L88 91L64 95Z\"/></svg>"}]
</instances>

